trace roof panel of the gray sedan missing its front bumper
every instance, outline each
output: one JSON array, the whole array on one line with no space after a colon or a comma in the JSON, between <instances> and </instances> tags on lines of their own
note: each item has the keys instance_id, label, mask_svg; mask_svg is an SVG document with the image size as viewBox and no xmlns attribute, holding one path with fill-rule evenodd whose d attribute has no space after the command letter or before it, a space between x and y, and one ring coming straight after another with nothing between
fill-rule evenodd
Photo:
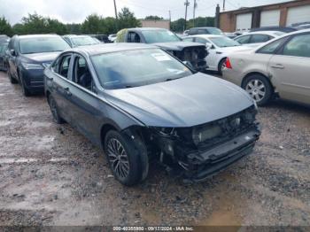
<instances>
[{"instance_id":1,"label":"roof panel of the gray sedan missing its front bumper","mask_svg":"<svg viewBox=\"0 0 310 232\"><path fill-rule=\"evenodd\" d=\"M86 53L89 56L105 54L123 50L159 49L157 46L145 43L100 43L96 45L81 46L67 51Z\"/></svg>"}]
</instances>

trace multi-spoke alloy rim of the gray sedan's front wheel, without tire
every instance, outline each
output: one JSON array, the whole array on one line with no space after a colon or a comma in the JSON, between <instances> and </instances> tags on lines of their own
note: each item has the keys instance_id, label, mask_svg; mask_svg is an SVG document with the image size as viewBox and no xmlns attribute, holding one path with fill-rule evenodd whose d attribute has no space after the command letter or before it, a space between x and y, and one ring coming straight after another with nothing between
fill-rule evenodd
<instances>
[{"instance_id":1,"label":"multi-spoke alloy rim of the gray sedan's front wheel, without tire","mask_svg":"<svg viewBox=\"0 0 310 232\"><path fill-rule=\"evenodd\" d=\"M107 156L114 173L125 179L129 174L128 155L118 139L112 138L108 141Z\"/></svg>"}]
</instances>

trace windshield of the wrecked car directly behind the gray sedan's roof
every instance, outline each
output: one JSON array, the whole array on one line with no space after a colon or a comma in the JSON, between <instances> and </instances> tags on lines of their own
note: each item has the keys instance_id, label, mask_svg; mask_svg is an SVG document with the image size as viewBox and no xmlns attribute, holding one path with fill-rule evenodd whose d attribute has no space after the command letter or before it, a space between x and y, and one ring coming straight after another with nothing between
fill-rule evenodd
<instances>
[{"instance_id":1,"label":"windshield of the wrecked car directly behind the gray sedan's roof","mask_svg":"<svg viewBox=\"0 0 310 232\"><path fill-rule=\"evenodd\" d=\"M165 43L181 41L178 36L168 30L142 30L141 32L144 36L146 43Z\"/></svg>"}]
</instances>

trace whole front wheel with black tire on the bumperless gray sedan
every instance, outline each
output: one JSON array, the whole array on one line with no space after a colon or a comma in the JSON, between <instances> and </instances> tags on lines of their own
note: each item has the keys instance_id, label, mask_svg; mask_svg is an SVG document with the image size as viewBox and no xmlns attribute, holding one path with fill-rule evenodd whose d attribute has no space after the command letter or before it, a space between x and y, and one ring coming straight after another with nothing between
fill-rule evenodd
<instances>
[{"instance_id":1,"label":"whole front wheel with black tire on the bumperless gray sedan","mask_svg":"<svg viewBox=\"0 0 310 232\"><path fill-rule=\"evenodd\" d=\"M116 180L127 186L143 181L149 169L145 145L139 138L135 140L115 130L105 135L105 155L112 173Z\"/></svg>"}]
</instances>

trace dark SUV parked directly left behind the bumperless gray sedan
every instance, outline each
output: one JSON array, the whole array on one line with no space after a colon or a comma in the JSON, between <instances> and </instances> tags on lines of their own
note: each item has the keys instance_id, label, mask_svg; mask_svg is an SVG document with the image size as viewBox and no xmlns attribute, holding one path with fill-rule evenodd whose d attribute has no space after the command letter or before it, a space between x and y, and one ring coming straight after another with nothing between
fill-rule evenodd
<instances>
[{"instance_id":1,"label":"dark SUV parked directly left behind the bumperless gray sedan","mask_svg":"<svg viewBox=\"0 0 310 232\"><path fill-rule=\"evenodd\" d=\"M70 46L59 35L14 35L8 44L8 76L12 83L19 81L27 97L43 91L43 70Z\"/></svg>"}]
</instances>

